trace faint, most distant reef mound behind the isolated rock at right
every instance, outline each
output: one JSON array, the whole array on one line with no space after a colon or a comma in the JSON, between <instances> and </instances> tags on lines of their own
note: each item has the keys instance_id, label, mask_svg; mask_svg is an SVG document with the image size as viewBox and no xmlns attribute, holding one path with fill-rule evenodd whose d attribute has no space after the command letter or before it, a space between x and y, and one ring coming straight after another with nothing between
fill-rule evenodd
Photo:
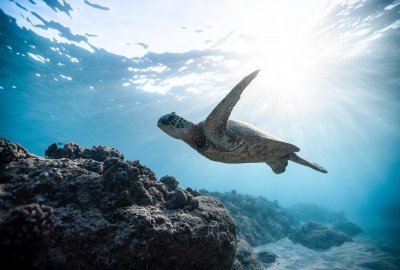
<instances>
[{"instance_id":1,"label":"faint, most distant reef mound behind the isolated rock at right","mask_svg":"<svg viewBox=\"0 0 400 270\"><path fill-rule=\"evenodd\" d=\"M296 224L308 221L330 224L347 221L343 212L330 211L315 204L299 203L285 210Z\"/></svg>"}]
</instances>

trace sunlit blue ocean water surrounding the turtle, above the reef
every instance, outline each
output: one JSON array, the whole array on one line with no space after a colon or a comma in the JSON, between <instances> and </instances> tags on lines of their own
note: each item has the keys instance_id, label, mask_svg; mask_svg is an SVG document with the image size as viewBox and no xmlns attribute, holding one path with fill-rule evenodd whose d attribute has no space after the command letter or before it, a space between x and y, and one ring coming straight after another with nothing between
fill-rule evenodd
<instances>
[{"instance_id":1,"label":"sunlit blue ocean water surrounding the turtle, above the reef","mask_svg":"<svg viewBox=\"0 0 400 270\"><path fill-rule=\"evenodd\" d=\"M345 211L368 241L399 246L400 1L4 0L0 20L0 136L42 156L116 147L184 187ZM328 174L213 162L157 127L172 111L204 120L257 69L231 118Z\"/></svg>"}]
</instances>

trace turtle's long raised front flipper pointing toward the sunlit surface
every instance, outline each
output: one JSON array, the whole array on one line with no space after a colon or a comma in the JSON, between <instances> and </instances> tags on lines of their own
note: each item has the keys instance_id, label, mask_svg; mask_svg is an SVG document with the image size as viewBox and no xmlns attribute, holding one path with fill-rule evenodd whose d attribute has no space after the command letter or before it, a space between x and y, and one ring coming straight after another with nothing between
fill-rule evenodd
<instances>
[{"instance_id":1,"label":"turtle's long raised front flipper pointing toward the sunlit surface","mask_svg":"<svg viewBox=\"0 0 400 270\"><path fill-rule=\"evenodd\" d=\"M259 70L256 70L241 80L208 115L204 122L203 132L209 140L221 138L223 131L226 130L226 124L233 107L239 101L243 90L257 76L258 72Z\"/></svg>"}]
</instances>

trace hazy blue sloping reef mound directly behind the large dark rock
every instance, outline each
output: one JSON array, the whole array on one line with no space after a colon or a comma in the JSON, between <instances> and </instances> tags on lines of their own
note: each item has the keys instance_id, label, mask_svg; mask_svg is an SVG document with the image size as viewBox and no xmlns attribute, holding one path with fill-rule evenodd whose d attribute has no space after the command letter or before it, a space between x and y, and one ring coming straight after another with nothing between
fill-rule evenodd
<instances>
[{"instance_id":1,"label":"hazy blue sloping reef mound directly behind the large dark rock","mask_svg":"<svg viewBox=\"0 0 400 270\"><path fill-rule=\"evenodd\" d=\"M238 233L251 246L258 246L286 237L292 223L286 211L275 202L263 197L237 194L236 191L219 193L200 191L221 200L236 222Z\"/></svg>"}]
</instances>

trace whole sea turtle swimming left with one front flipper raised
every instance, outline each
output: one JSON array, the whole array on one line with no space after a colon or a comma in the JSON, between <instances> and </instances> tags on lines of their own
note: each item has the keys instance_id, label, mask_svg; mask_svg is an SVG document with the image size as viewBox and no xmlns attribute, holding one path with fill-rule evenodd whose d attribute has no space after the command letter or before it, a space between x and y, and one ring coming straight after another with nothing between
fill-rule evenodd
<instances>
[{"instance_id":1,"label":"whole sea turtle swimming left with one front flipper raised","mask_svg":"<svg viewBox=\"0 0 400 270\"><path fill-rule=\"evenodd\" d=\"M294 152L300 149L250 124L229 119L243 90L259 70L241 80L214 108L205 121L193 124L175 112L158 120L158 127L180 139L203 156L224 163L265 162L274 173L283 173L288 160L327 173L322 166L307 161Z\"/></svg>"}]
</instances>

